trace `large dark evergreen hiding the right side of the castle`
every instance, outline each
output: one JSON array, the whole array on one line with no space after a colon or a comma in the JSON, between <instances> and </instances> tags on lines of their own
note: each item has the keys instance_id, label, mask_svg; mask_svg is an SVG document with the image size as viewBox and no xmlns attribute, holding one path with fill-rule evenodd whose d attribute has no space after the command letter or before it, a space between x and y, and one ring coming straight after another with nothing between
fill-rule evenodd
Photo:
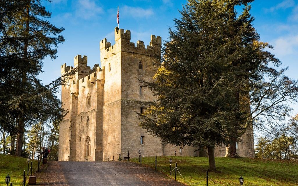
<instances>
[{"instance_id":1,"label":"large dark evergreen hiding the right side of the castle","mask_svg":"<svg viewBox=\"0 0 298 186\"><path fill-rule=\"evenodd\" d=\"M215 146L229 146L236 155L236 141L253 120L276 111L276 104L260 102L268 102L268 92L282 90L273 91L264 80L278 75L268 63L280 61L265 50L271 46L260 42L252 27L247 6L252 1L189 0L181 19L174 19L175 30L169 29L155 81L142 81L157 100L141 103L146 110L139 113L140 125L163 143L207 148L210 170L216 170ZM243 7L240 15L235 6ZM258 97L257 92L266 96ZM284 99L278 97L277 103ZM262 109L256 106L251 112L252 103Z\"/></svg>"}]
</instances>

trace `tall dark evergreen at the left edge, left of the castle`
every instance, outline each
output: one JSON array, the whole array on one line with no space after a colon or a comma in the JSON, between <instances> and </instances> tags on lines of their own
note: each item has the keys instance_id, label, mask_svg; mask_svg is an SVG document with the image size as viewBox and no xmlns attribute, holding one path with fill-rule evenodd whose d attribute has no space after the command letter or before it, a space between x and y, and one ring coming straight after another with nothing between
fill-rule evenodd
<instances>
[{"instance_id":1,"label":"tall dark evergreen at the left edge, left of the castle","mask_svg":"<svg viewBox=\"0 0 298 186\"><path fill-rule=\"evenodd\" d=\"M44 121L49 116L47 106L60 102L54 93L61 79L44 86L37 76L46 56L56 58L56 48L64 41L63 28L44 19L51 13L41 0L1 1L0 5L0 123L16 135L15 155L20 156L25 127Z\"/></svg>"}]
</instances>

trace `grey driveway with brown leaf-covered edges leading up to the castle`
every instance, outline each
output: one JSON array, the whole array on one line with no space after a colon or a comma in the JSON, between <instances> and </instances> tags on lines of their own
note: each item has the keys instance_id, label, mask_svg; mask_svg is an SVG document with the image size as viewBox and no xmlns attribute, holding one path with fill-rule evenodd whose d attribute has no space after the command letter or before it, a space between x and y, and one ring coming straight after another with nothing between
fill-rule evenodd
<instances>
[{"instance_id":1,"label":"grey driveway with brown leaf-covered edges leading up to the castle","mask_svg":"<svg viewBox=\"0 0 298 186\"><path fill-rule=\"evenodd\" d=\"M132 162L48 162L37 185L183 185Z\"/></svg>"}]
</instances>

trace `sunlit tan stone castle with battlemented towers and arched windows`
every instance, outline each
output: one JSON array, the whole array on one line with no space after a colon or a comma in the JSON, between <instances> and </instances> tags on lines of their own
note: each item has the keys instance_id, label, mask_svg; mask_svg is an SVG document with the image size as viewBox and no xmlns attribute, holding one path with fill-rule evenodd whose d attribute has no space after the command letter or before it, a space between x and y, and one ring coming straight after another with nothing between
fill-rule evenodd
<instances>
[{"instance_id":1,"label":"sunlit tan stone castle with battlemented towers and arched windows","mask_svg":"<svg viewBox=\"0 0 298 186\"><path fill-rule=\"evenodd\" d=\"M161 37L151 35L147 48L139 40L130 42L129 30L115 28L115 44L100 41L100 62L87 66L87 56L74 58L75 75L62 86L63 108L69 112L60 123L59 161L108 161L127 156L195 156L193 147L163 145L155 136L139 126L136 112L142 112L139 101L153 100L152 93L142 87L139 79L152 81L159 65L153 64L161 55ZM73 67L61 66L61 74ZM242 157L254 157L252 131L238 142ZM226 149L215 149L216 156L225 156Z\"/></svg>"}]
</instances>

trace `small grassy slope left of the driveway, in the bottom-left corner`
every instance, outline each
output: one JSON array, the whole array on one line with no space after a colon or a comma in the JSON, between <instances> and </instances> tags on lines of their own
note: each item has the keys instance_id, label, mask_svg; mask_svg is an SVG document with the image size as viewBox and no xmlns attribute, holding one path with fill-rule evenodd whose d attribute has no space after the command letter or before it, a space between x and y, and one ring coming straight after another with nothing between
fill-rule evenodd
<instances>
[{"instance_id":1,"label":"small grassy slope left of the driveway, in the bottom-left corner","mask_svg":"<svg viewBox=\"0 0 298 186\"><path fill-rule=\"evenodd\" d=\"M31 163L29 165L29 168ZM37 169L38 162L33 160L32 175ZM0 185L6 185L5 176L7 173L10 176L10 182L13 182L13 185L23 185L23 171L27 175L28 161L27 158L16 157L11 155L0 154ZM29 172L30 176L30 172ZM27 181L28 181L27 177Z\"/></svg>"}]
</instances>

